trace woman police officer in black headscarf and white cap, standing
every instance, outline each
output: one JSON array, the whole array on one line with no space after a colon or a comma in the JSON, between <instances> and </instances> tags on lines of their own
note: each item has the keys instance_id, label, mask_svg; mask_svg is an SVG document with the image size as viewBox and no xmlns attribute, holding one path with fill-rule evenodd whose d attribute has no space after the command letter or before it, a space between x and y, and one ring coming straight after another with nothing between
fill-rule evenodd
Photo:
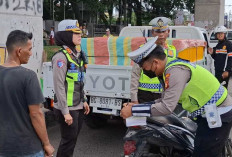
<instances>
[{"instance_id":1,"label":"woman police officer in black headscarf and white cap, standing","mask_svg":"<svg viewBox=\"0 0 232 157\"><path fill-rule=\"evenodd\" d=\"M71 157L82 127L83 116L89 113L83 90L86 58L76 50L76 46L81 44L81 30L77 20L61 21L55 41L61 46L52 57L54 113L61 131L57 157Z\"/></svg>"}]
</instances>

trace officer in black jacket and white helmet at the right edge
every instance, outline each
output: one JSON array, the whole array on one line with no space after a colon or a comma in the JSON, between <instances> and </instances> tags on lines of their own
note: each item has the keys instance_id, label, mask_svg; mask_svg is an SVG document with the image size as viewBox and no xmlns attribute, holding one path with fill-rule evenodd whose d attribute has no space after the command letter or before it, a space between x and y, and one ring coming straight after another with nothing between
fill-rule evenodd
<instances>
[{"instance_id":1,"label":"officer in black jacket and white helmet at the right edge","mask_svg":"<svg viewBox=\"0 0 232 157\"><path fill-rule=\"evenodd\" d=\"M215 77L220 83L225 81L227 88L232 68L232 43L226 38L226 27L217 26L214 33L218 39L218 44L213 49L208 48L208 52L214 59Z\"/></svg>"}]
</instances>

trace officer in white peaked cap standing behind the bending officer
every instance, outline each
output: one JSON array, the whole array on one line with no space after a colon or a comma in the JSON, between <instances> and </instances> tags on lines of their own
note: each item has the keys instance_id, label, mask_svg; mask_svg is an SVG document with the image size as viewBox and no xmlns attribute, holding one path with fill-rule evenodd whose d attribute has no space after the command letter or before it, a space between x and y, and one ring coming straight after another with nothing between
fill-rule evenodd
<instances>
[{"instance_id":1,"label":"officer in white peaked cap standing behind the bending officer","mask_svg":"<svg viewBox=\"0 0 232 157\"><path fill-rule=\"evenodd\" d=\"M149 24L152 25L152 35L158 37L156 44L161 45L170 57L176 57L176 48L166 42L170 32L168 28L170 21L166 17L156 17ZM131 72L130 91L133 103L143 103L160 98L163 88L155 73L142 70L138 64L134 64Z\"/></svg>"}]
</instances>

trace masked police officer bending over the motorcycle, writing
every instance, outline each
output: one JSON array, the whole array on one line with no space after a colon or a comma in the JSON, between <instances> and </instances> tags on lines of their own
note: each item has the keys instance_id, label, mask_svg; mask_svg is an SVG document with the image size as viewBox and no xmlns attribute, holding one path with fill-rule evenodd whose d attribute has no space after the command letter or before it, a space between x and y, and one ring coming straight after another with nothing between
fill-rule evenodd
<instances>
[{"instance_id":1,"label":"masked police officer bending over the motorcycle, writing","mask_svg":"<svg viewBox=\"0 0 232 157\"><path fill-rule=\"evenodd\" d=\"M155 40L149 41L128 56L143 69L152 70L159 76L164 87L162 98L155 104L124 104L121 116L168 115L179 102L198 124L193 156L220 157L232 125L232 99L227 89L203 67L166 57L162 47L154 44ZM208 115L204 115L204 106L208 105L215 105L215 112L221 114L221 127L209 128L206 120ZM214 114L211 116L214 117Z\"/></svg>"}]
</instances>

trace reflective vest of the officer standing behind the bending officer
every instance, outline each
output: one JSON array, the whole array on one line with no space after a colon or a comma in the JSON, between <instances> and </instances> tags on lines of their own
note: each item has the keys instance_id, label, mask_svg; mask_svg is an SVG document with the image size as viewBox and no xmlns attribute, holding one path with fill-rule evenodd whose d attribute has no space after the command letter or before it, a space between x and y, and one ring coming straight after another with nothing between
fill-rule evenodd
<instances>
[{"instance_id":1,"label":"reflective vest of the officer standing behind the bending officer","mask_svg":"<svg viewBox=\"0 0 232 157\"><path fill-rule=\"evenodd\" d=\"M176 48L173 45L168 45L168 48L164 50L164 53L169 57L176 58ZM163 87L158 79L158 77L150 78L144 71L141 71L139 79L139 89L144 91L150 91L154 93L161 93Z\"/></svg>"}]
</instances>

